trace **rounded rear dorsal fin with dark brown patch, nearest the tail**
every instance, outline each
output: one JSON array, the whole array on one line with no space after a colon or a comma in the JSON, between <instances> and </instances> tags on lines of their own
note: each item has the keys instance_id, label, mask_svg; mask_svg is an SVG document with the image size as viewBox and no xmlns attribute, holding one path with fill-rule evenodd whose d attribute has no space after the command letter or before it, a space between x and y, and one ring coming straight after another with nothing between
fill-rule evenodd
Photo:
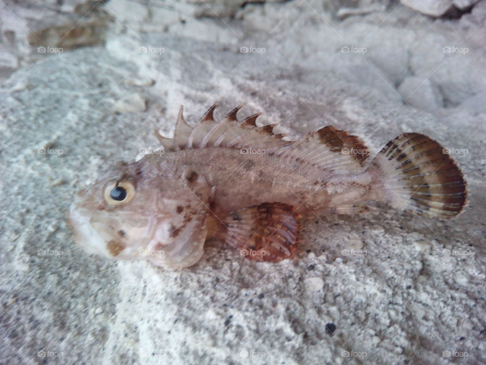
<instances>
[{"instance_id":1,"label":"rounded rear dorsal fin with dark brown patch, nearest the tail","mask_svg":"<svg viewBox=\"0 0 486 365\"><path fill-rule=\"evenodd\" d=\"M358 137L327 126L307 133L276 154L330 170L359 171L366 165L369 151Z\"/></svg>"}]
</instances>

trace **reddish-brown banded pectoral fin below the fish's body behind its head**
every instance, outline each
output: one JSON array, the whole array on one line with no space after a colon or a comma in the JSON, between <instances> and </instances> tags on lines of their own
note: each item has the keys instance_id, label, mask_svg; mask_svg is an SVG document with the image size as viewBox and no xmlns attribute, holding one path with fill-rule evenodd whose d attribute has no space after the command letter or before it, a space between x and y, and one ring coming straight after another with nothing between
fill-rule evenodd
<instances>
[{"instance_id":1,"label":"reddish-brown banded pectoral fin below the fish's body behind its head","mask_svg":"<svg viewBox=\"0 0 486 365\"><path fill-rule=\"evenodd\" d=\"M250 260L290 259L297 251L298 218L295 207L278 202L235 210L224 219L224 239Z\"/></svg>"}]
</instances>

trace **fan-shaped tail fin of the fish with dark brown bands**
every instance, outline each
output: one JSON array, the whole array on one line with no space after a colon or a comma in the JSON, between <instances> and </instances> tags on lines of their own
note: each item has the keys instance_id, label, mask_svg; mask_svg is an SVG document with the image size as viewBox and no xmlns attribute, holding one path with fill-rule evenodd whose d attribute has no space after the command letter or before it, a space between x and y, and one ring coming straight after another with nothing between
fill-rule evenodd
<instances>
[{"instance_id":1,"label":"fan-shaped tail fin of the fish with dark brown bands","mask_svg":"<svg viewBox=\"0 0 486 365\"><path fill-rule=\"evenodd\" d=\"M403 133L373 160L395 208L441 219L455 218L466 205L466 181L442 146L419 133Z\"/></svg>"}]
</instances>

